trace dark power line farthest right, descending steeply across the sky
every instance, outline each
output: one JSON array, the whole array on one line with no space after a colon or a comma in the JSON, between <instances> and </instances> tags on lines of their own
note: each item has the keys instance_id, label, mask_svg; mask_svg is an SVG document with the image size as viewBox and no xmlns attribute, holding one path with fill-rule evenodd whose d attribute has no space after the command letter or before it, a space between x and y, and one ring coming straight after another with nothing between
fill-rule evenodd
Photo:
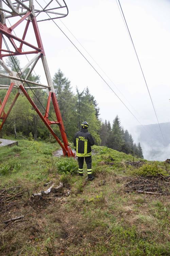
<instances>
[{"instance_id":1,"label":"dark power line farthest right, descending steeply across the sky","mask_svg":"<svg viewBox=\"0 0 170 256\"><path fill-rule=\"evenodd\" d=\"M118 0L118 1L119 1L119 0ZM124 18L126 27L127 27L127 29L128 29L128 33L129 33L130 38L131 38L131 42L132 42L133 48L134 48L134 50L135 50L136 57L137 57L138 62L139 62L140 69L141 69L141 71L142 71L143 78L144 78L144 80L145 80L145 84L146 84L147 89L148 89L149 97L150 97L151 102L152 102L152 106L153 106L153 109L154 109L154 112L155 112L155 115L156 115L156 119L157 119L157 122L158 122L158 125L159 125L160 132L161 132L162 137L163 137L163 139L164 139L164 136L163 136L163 133L162 133L162 130L161 130L161 128L160 128L159 121L158 121L158 117L157 117L157 114L156 114L156 111L155 111L155 107L154 107L154 104L153 104L153 101L152 101L152 97L151 97L151 94L150 94L150 91L149 91L149 88L148 88L148 85L147 85L147 82L146 82L146 79L145 79L145 75L144 75L144 73L143 73L143 70L142 70L142 67L141 67L141 64L140 64L140 61L139 61L139 57L138 57L138 54L137 54L137 52L136 52L136 48L135 48L135 45L134 45L134 43L133 43L133 40L132 40L132 37L131 37L131 33L130 33L130 31L129 31L128 24L127 24L127 22L126 22L126 19L125 19L125 16L124 16L124 13L123 13L123 10L122 10L120 1L119 1L119 5L120 5L120 9L121 9L122 14L123 14L123 17L122 17L122 18ZM119 10L120 10L120 9L119 9Z\"/></svg>"}]
</instances>

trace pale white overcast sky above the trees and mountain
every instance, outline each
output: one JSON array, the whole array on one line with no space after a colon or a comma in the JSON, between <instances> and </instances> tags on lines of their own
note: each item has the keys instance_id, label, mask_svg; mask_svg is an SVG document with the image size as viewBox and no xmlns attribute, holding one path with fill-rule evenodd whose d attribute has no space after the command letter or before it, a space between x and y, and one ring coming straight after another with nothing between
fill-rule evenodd
<instances>
[{"instance_id":1,"label":"pale white overcast sky above the trees and mountain","mask_svg":"<svg viewBox=\"0 0 170 256\"><path fill-rule=\"evenodd\" d=\"M44 0L39 1L44 5ZM156 123L156 117L116 0L66 0L69 14L62 22L98 62L110 79L99 69L59 19L55 22L100 72L143 125ZM170 121L170 1L120 0L128 23L159 122ZM52 21L38 23L53 77L60 68L82 91L86 86L99 103L101 118L111 122L119 115L124 128L139 123L114 93L90 67ZM19 30L16 30L19 35ZM28 36L32 38L31 30ZM28 37L26 38L29 41ZM31 57L29 57L31 58ZM22 57L22 63L26 59ZM45 83L40 63L35 67ZM125 98L124 98L125 97ZM128 100L128 101L127 101ZM88 120L87 120L88 121Z\"/></svg>"}]
</instances>

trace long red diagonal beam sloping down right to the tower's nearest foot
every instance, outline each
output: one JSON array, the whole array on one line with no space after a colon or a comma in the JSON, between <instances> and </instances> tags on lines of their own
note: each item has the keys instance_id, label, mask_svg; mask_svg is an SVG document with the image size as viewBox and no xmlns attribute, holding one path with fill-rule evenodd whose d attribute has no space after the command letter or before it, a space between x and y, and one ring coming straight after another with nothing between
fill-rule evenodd
<instances>
[{"instance_id":1,"label":"long red diagonal beam sloping down right to the tower's nearest foot","mask_svg":"<svg viewBox=\"0 0 170 256\"><path fill-rule=\"evenodd\" d=\"M61 143L61 141L59 140L59 138L56 136L56 134L54 133L53 129L50 127L50 125L48 124L47 120L44 118L44 116L41 114L41 112L39 111L39 109L37 108L37 106L35 105L35 103L32 101L32 99L29 97L27 91L23 88L22 85L19 86L19 88L21 89L21 91L23 92L23 94L26 96L26 98L28 99L28 101L31 103L31 105L33 106L33 108L35 109L35 111L37 112L37 114L39 115L39 117L41 118L41 120L45 123L45 125L47 126L47 128L49 129L49 131L51 132L51 134L54 136L54 138L56 139L56 141L58 142L58 144L62 147L63 153L65 153L65 155L68 155L68 151L66 149L66 147Z\"/></svg>"}]
</instances>

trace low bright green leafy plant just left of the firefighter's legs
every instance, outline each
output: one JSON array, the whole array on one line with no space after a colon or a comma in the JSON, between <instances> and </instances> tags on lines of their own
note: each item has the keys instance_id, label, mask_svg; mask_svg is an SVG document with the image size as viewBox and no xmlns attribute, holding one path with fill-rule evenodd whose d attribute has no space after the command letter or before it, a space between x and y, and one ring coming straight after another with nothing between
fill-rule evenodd
<instances>
[{"instance_id":1,"label":"low bright green leafy plant just left of the firefighter's legs","mask_svg":"<svg viewBox=\"0 0 170 256\"><path fill-rule=\"evenodd\" d=\"M61 172L75 173L78 170L77 162L73 158L63 158L56 163L57 169Z\"/></svg>"}]
</instances>

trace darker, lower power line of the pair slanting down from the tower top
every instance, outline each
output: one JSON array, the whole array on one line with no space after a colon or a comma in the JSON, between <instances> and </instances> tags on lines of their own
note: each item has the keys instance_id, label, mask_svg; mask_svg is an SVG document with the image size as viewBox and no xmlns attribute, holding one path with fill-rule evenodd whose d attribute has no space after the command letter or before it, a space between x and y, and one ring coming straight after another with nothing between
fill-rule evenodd
<instances>
[{"instance_id":1,"label":"darker, lower power line of the pair slanting down from the tower top","mask_svg":"<svg viewBox=\"0 0 170 256\"><path fill-rule=\"evenodd\" d=\"M37 3L38 1L35 0ZM39 4L39 3L38 3ZM39 6L43 9L43 7L39 4ZM49 18L50 15L48 13L46 13ZM78 47L69 39L69 37L65 34L65 32L55 23L55 21L52 19L53 23L61 30L61 32L66 36L66 38L70 41L70 43L77 49L77 51L83 56L83 58L89 63L89 65L96 71L96 73L101 77L101 79L105 82L105 84L113 91L113 93L116 95L116 97L122 102L122 104L125 106L126 109L128 109L128 111L133 115L133 117L137 120L137 122L146 130L146 128L140 123L140 121L138 120L138 118L131 112L131 110L128 108L128 106L126 106L126 104L120 99L120 97L115 93L115 91L112 89L112 87L104 80L104 78L102 77L102 75L100 75L100 73L95 69L95 67L88 61L88 59L81 53L81 51L78 49ZM146 130L147 131L147 130ZM148 131L147 131L148 132ZM148 132L149 133L149 132Z\"/></svg>"}]
</instances>

